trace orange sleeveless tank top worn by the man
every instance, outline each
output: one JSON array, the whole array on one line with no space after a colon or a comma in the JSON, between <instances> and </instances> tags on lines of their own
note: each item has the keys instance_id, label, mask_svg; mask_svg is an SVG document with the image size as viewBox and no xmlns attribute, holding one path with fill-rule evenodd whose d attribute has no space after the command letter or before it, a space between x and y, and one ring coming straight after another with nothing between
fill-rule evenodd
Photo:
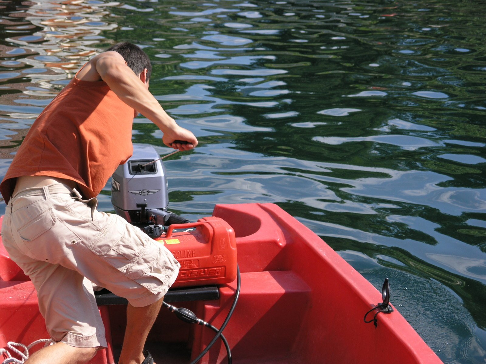
<instances>
[{"instance_id":1,"label":"orange sleeveless tank top worn by the man","mask_svg":"<svg viewBox=\"0 0 486 364\"><path fill-rule=\"evenodd\" d=\"M133 153L134 110L104 81L74 79L47 105L23 140L0 193L8 203L17 177L50 176L77 182L96 197L116 167Z\"/></svg>"}]
</instances>

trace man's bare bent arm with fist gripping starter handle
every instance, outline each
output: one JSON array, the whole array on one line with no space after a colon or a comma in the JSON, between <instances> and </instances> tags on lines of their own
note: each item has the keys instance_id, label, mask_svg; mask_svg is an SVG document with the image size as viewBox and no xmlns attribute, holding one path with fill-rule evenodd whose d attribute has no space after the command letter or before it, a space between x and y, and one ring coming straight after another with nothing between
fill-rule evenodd
<instances>
[{"instance_id":1,"label":"man's bare bent arm with fist gripping starter handle","mask_svg":"<svg viewBox=\"0 0 486 364\"><path fill-rule=\"evenodd\" d=\"M158 101L144 83L126 66L121 54L109 51L103 52L91 61L91 73L96 71L110 89L128 106L152 121L164 133L163 143L174 149L189 150L197 146L197 139L192 132L181 128L174 119L167 115ZM144 79L144 75L141 75ZM176 140L188 144L174 143Z\"/></svg>"}]
</instances>

